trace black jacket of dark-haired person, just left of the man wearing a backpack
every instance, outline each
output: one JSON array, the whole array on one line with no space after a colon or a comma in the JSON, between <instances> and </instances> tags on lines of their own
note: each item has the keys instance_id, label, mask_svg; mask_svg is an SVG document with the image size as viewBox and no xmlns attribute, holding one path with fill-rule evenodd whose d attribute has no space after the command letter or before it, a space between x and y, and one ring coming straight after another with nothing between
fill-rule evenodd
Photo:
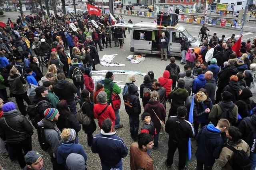
<instances>
[{"instance_id":1,"label":"black jacket of dark-haired person, just left of the man wearing a backpack","mask_svg":"<svg viewBox=\"0 0 256 170\"><path fill-rule=\"evenodd\" d=\"M64 99L67 102L74 101L74 93L77 92L76 86L65 79L59 80L58 83L54 85L53 90L60 100ZM65 93L63 93L64 91Z\"/></svg>"}]
</instances>

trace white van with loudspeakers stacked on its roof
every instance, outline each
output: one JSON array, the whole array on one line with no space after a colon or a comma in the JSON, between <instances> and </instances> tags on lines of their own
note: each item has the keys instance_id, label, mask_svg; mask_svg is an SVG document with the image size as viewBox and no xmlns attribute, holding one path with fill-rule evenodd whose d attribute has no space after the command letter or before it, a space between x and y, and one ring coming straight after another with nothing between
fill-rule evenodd
<instances>
[{"instance_id":1,"label":"white van with loudspeakers stacked on its roof","mask_svg":"<svg viewBox=\"0 0 256 170\"><path fill-rule=\"evenodd\" d=\"M168 51L171 56L180 56L180 39L186 36L191 43L191 47L198 47L200 41L191 36L184 26L177 24L174 27L161 28L156 23L139 22L137 24L114 24L114 27L132 28L130 51L140 53L142 56L146 54L161 54L159 49L159 38L162 32L169 38Z\"/></svg>"}]
</instances>

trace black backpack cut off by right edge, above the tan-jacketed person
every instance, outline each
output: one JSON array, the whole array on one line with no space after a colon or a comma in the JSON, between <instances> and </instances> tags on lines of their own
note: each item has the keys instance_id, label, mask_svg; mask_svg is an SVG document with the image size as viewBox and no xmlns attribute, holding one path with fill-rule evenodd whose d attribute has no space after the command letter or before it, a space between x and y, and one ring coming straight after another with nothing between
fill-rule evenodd
<instances>
[{"instance_id":1,"label":"black backpack cut off by right edge, above the tan-jacketed person","mask_svg":"<svg viewBox=\"0 0 256 170\"><path fill-rule=\"evenodd\" d=\"M256 153L256 149L255 149L255 147L256 147L255 146L255 144L256 144L256 128L254 128L255 125L252 125L252 117L246 117L246 118L244 118L244 121L250 128L250 133L248 134L248 136L246 138L246 143L250 147L250 153L255 154Z\"/></svg>"}]
</instances>

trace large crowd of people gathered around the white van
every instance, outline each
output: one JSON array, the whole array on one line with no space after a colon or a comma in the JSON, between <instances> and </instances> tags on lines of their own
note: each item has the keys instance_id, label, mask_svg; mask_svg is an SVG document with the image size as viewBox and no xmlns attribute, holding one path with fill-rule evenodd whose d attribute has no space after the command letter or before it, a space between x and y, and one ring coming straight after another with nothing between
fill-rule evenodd
<instances>
[{"instance_id":1,"label":"large crowd of people gathered around the white van","mask_svg":"<svg viewBox=\"0 0 256 170\"><path fill-rule=\"evenodd\" d=\"M48 19L30 15L25 23L18 18L13 28L0 30L0 150L11 161L18 160L24 170L44 169L42 154L32 150L34 132L54 170L86 169L88 157L78 139L81 128L87 134L88 146L99 155L102 169L122 169L128 148L115 131L125 121L119 115L121 88L113 82L110 71L103 84L94 82L92 70L99 62L97 44L100 50L104 43L111 47L113 36L115 46L122 48L125 30L112 28L108 16L96 20L98 29L93 28L88 14ZM69 28L70 21L78 32ZM162 34L162 39L161 51L166 53L168 38ZM254 170L256 105L250 97L256 93L256 40L253 44L250 40L241 43L238 57L231 49L234 36L224 43L214 34L209 43L204 40L199 53L198 49L188 49L186 42L182 37L184 71L175 63L175 57L170 57L163 76L155 79L154 72L149 71L139 92L134 84L136 75L127 76L122 97L134 140L130 168L154 169L151 150L158 149L159 135L166 131L168 169L176 148L178 168L186 169L188 141L192 138L198 144L198 170L212 169L215 160L222 169ZM38 67L38 55L49 59L45 75ZM167 55L162 55L161 60L166 61ZM33 85L34 95L28 94L26 87L31 89ZM74 94L79 99L79 110ZM8 95L15 98L16 104ZM166 105L170 105L167 118ZM94 119L98 119L101 129L96 136Z\"/></svg>"}]
</instances>

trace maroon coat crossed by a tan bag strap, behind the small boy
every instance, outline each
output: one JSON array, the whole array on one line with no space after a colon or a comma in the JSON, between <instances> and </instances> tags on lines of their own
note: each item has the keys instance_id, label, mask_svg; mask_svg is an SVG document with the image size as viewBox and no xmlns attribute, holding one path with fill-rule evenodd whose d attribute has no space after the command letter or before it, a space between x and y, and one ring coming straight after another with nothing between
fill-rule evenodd
<instances>
[{"instance_id":1,"label":"maroon coat crossed by a tan bag strap, behind the small boy","mask_svg":"<svg viewBox=\"0 0 256 170\"><path fill-rule=\"evenodd\" d=\"M166 109L162 103L160 103L159 101L154 102L151 99L144 108L144 113L150 113L151 121L155 125L156 132L159 133L161 130L161 124L153 110L155 111L156 115L159 117L160 120L165 121Z\"/></svg>"}]
</instances>

